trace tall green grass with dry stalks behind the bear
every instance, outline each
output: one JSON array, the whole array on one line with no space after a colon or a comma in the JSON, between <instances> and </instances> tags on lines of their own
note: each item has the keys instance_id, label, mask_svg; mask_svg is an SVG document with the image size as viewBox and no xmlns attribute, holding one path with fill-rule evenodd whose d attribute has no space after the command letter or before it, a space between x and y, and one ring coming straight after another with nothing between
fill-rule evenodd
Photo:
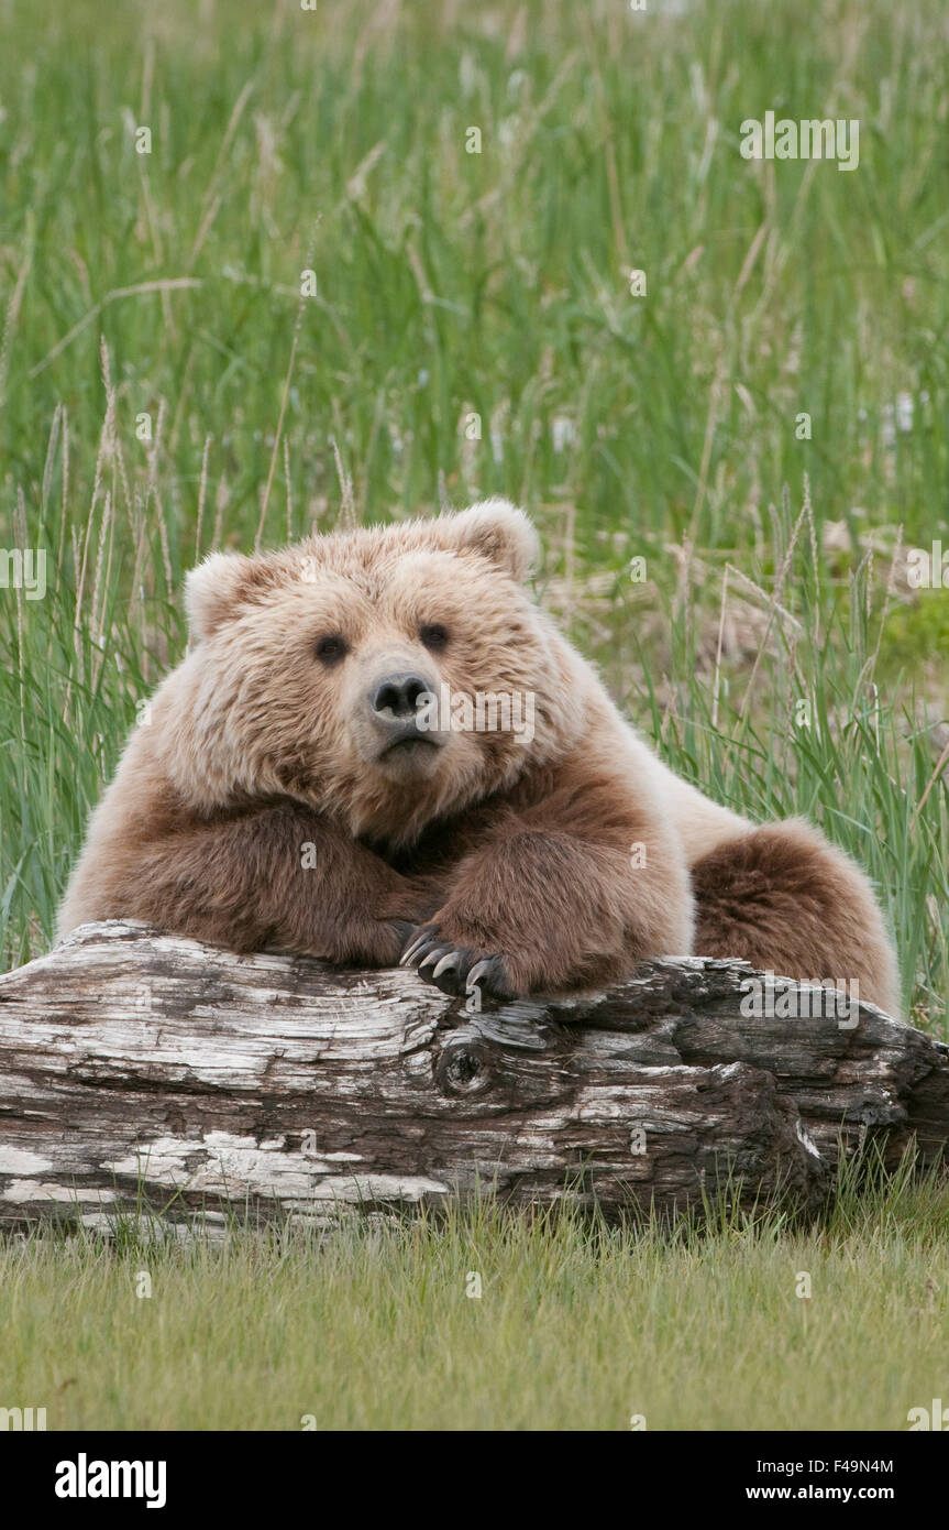
<instances>
[{"instance_id":1,"label":"tall green grass with dry stalks behind the bear","mask_svg":"<svg viewBox=\"0 0 949 1530\"><path fill-rule=\"evenodd\" d=\"M3 959L52 938L199 555L503 491L665 756L868 866L944 1033L949 598L899 536L946 529L947 32L0 0L0 546L49 569L0 591ZM859 118L859 170L747 164L767 109Z\"/></svg>"}]
</instances>

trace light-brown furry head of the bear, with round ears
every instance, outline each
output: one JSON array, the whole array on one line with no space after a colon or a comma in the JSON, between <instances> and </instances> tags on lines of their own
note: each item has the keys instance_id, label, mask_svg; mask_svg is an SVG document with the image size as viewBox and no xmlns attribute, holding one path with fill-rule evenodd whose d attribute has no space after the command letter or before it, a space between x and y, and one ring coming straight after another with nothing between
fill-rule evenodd
<instances>
[{"instance_id":1,"label":"light-brown furry head of the bear, with round ears","mask_svg":"<svg viewBox=\"0 0 949 1530\"><path fill-rule=\"evenodd\" d=\"M492 499L212 554L153 708L176 791L199 812L290 797L405 845L509 788L579 731L576 661L524 588L535 552Z\"/></svg>"}]
</instances>

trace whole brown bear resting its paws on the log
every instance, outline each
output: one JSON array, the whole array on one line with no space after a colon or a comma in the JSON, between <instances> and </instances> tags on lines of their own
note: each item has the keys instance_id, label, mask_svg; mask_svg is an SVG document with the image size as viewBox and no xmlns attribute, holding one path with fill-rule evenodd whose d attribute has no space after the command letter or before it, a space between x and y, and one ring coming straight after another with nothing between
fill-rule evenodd
<instances>
[{"instance_id":1,"label":"whole brown bear resting its paws on the log","mask_svg":"<svg viewBox=\"0 0 949 1530\"><path fill-rule=\"evenodd\" d=\"M498 998L744 956L897 1013L865 875L666 770L530 598L535 551L495 499L194 569L189 652L92 817L60 933L139 918Z\"/></svg>"}]
</instances>

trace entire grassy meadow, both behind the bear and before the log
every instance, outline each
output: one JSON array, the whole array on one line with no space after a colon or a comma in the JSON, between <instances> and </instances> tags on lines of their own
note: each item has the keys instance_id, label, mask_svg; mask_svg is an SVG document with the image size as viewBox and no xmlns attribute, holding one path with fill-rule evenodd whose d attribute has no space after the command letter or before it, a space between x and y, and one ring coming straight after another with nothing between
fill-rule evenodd
<instances>
[{"instance_id":1,"label":"entire grassy meadow, both behind the bear and before the log","mask_svg":"<svg viewBox=\"0 0 949 1530\"><path fill-rule=\"evenodd\" d=\"M949 552L947 43L940 0L0 0L0 572L46 584L0 584L0 967L53 939L202 555L501 493L663 757L866 866L949 1039L949 591L908 555ZM859 165L744 159L767 110L857 119ZM0 1405L905 1427L949 1397L947 1247L938 1181L808 1233L31 1239Z\"/></svg>"}]
</instances>

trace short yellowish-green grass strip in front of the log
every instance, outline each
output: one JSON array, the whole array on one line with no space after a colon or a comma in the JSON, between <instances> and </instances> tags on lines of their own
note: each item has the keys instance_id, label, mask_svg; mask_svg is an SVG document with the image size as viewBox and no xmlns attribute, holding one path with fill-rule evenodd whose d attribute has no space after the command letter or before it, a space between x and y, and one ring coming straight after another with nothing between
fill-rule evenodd
<instances>
[{"instance_id":1,"label":"short yellowish-green grass strip in front of the log","mask_svg":"<svg viewBox=\"0 0 949 1530\"><path fill-rule=\"evenodd\" d=\"M49 1429L899 1431L949 1395L946 1192L847 1193L801 1235L484 1207L322 1241L35 1241L0 1253L0 1331L5 1398Z\"/></svg>"}]
</instances>

